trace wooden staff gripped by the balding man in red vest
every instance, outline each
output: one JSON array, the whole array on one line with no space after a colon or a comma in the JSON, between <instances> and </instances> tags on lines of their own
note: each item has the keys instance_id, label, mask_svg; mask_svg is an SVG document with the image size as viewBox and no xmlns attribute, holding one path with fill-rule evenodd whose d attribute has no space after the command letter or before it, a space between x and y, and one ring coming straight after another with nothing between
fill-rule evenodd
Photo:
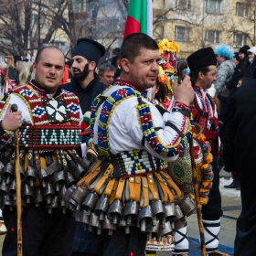
<instances>
[{"instance_id":1,"label":"wooden staff gripped by the balding man in red vest","mask_svg":"<svg viewBox=\"0 0 256 256\"><path fill-rule=\"evenodd\" d=\"M17 111L17 105L12 104L12 112ZM16 149L16 226L17 226L17 256L22 256L22 219L21 219L21 181L19 166L18 130L15 131Z\"/></svg>"}]
</instances>

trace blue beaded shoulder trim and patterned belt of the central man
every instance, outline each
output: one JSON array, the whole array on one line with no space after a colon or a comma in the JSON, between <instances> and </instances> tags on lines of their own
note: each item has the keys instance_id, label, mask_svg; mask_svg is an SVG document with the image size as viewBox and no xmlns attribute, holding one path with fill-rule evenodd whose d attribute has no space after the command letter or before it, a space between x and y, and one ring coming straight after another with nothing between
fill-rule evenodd
<instances>
[{"instance_id":1,"label":"blue beaded shoulder trim and patterned belt of the central man","mask_svg":"<svg viewBox=\"0 0 256 256\"><path fill-rule=\"evenodd\" d=\"M103 93L105 92L106 91ZM158 142L149 104L141 101L142 98L146 99L143 93L136 91L131 87L123 87L113 91L108 97L105 97L104 94L99 95L92 103L91 130L93 131L95 120L99 115L97 149L100 155L111 156L112 164L114 165L113 176L140 175L155 170L165 170L167 166L165 161L155 158L145 150L134 149L133 151L124 151L118 155L111 154L108 125L111 121L112 112L119 103L131 97L138 98L137 112L142 124L144 137L158 154L167 156L175 155L177 150L182 151L185 148L185 144L183 143L176 148L166 148ZM101 112L98 112L98 108L101 104ZM187 134L187 136L189 135L190 134Z\"/></svg>"}]
</instances>

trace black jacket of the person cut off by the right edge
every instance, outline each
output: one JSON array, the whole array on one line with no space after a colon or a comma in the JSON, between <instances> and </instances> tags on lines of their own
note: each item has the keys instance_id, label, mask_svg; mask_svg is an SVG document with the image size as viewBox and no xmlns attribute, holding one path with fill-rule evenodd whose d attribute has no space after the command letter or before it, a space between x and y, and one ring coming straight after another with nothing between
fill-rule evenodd
<instances>
[{"instance_id":1,"label":"black jacket of the person cut off by the right edge","mask_svg":"<svg viewBox=\"0 0 256 256\"><path fill-rule=\"evenodd\" d=\"M256 80L243 83L230 98L222 143L225 169L235 171L240 186L255 189Z\"/></svg>"}]
</instances>

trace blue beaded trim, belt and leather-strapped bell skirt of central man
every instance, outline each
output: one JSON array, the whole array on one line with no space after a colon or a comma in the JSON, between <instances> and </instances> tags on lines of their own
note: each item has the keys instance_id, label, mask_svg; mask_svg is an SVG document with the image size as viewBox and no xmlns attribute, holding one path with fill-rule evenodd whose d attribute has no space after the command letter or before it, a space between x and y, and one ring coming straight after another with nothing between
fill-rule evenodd
<instances>
[{"instance_id":1,"label":"blue beaded trim, belt and leather-strapped bell skirt of central man","mask_svg":"<svg viewBox=\"0 0 256 256\"><path fill-rule=\"evenodd\" d=\"M104 92L103 92L104 93ZM165 172L166 162L153 157L145 150L124 151L118 155L110 152L108 125L112 112L122 101L136 97L137 114L142 124L144 140L162 155L175 155L182 151L191 133L184 131L183 139L165 146L158 140L149 104L142 102L144 95L131 87L119 88L108 97L99 95L92 104L91 130L99 116L98 144L99 159L91 165L89 173L78 185L86 193L83 200L71 197L76 220L86 229L130 229L137 226L148 233L149 250L172 251L176 223L183 223L180 209L185 200L180 189ZM100 105L101 112L98 112ZM102 158L103 156L103 158ZM70 203L69 200L69 203ZM180 207L179 207L180 206ZM179 215L179 213L181 215Z\"/></svg>"}]
</instances>

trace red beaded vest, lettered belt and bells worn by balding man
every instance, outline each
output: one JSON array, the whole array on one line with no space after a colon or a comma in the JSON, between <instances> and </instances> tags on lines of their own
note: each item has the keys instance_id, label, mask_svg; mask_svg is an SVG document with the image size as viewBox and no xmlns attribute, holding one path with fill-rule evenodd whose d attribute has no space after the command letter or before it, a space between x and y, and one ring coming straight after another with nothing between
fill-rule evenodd
<instances>
[{"instance_id":1,"label":"red beaded vest, lettered belt and bells worn by balding man","mask_svg":"<svg viewBox=\"0 0 256 256\"><path fill-rule=\"evenodd\" d=\"M10 93L27 104L33 123L18 130L23 207L35 203L44 205L49 213L51 208L62 208L65 212L69 208L64 199L66 191L75 187L90 165L76 151L80 149L79 100L68 91L62 91L56 99L48 99L34 85L16 86ZM0 113L5 111L9 100L5 97L5 101L0 101ZM8 136L2 138L2 143L11 138ZM10 210L16 205L15 159L13 143L2 144L0 195L2 207Z\"/></svg>"}]
</instances>

